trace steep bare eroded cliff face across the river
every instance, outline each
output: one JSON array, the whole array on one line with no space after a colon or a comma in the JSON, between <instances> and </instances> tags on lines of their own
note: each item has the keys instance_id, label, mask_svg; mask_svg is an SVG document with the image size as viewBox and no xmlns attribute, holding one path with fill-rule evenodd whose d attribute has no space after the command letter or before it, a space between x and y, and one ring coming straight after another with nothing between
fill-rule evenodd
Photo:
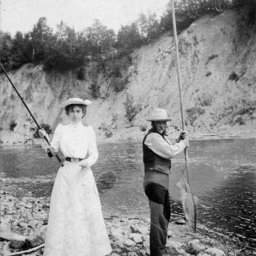
<instances>
[{"instance_id":1,"label":"steep bare eroded cliff face across the river","mask_svg":"<svg viewBox=\"0 0 256 256\"><path fill-rule=\"evenodd\" d=\"M244 26L241 13L228 10L196 20L178 39L187 129L197 134L253 131L256 25ZM86 122L101 139L141 139L150 126L146 116L155 107L165 108L172 116L172 133L181 127L173 43L173 37L166 33L135 51L127 88L118 93L110 89L106 98L96 100L90 96L90 74L79 81L72 73L45 73L42 66L28 64L9 75L38 123L50 124L53 129L66 122L59 103L79 97L92 100ZM101 80L101 90L106 91L109 81ZM31 141L33 120L3 74L0 83L2 143ZM12 122L17 123L13 131Z\"/></svg>"}]
</instances>

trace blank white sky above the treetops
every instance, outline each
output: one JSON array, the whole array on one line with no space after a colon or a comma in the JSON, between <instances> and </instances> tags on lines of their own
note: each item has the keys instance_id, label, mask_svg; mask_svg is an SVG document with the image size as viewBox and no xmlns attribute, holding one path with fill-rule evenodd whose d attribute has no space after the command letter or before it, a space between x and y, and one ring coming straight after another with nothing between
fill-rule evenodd
<instances>
[{"instance_id":1,"label":"blank white sky above the treetops","mask_svg":"<svg viewBox=\"0 0 256 256\"><path fill-rule=\"evenodd\" d=\"M56 29L61 20L76 31L89 27L94 19L115 32L138 18L139 13L161 16L169 0L0 0L1 27L15 35L27 33L40 17Z\"/></svg>"}]
</instances>

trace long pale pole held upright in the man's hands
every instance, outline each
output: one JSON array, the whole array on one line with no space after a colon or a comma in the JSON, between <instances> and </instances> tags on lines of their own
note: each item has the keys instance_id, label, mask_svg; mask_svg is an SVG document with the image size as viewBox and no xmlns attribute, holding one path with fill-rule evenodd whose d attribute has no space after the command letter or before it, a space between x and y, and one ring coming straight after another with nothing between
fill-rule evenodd
<instances>
[{"instance_id":1,"label":"long pale pole held upright in the man's hands","mask_svg":"<svg viewBox=\"0 0 256 256\"><path fill-rule=\"evenodd\" d=\"M174 10L174 0L172 0L172 25L173 25L173 35L174 35L174 42L175 42L175 50L176 50L176 59L177 59L177 75L178 75L178 85L179 85L179 96L180 96L180 112L181 112L181 122L182 122L182 130L185 130L185 119L184 119L184 110L183 110L183 98L182 98L182 87L181 87L181 79L180 79L180 58L179 58L179 49L178 49L178 37L177 37L177 28L176 28L176 19L175 19L175 10ZM189 186L189 164L188 164L188 151L185 148L185 162L186 162L186 171L187 171L187 181ZM182 174L183 175L183 174ZM188 191L187 191L188 192ZM191 193L191 190L190 190ZM196 204L194 200L194 195L191 193L191 198L193 201L193 213L195 217L194 223L194 231L196 231Z\"/></svg>"}]
</instances>

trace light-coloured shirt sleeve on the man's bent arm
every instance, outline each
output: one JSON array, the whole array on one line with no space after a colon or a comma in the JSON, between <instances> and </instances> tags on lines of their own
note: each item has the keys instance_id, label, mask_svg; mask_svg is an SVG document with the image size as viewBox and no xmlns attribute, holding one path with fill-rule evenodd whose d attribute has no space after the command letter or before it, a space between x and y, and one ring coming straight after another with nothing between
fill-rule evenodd
<instances>
[{"instance_id":1,"label":"light-coloured shirt sleeve on the man's bent arm","mask_svg":"<svg viewBox=\"0 0 256 256\"><path fill-rule=\"evenodd\" d=\"M148 134L144 143L155 154L165 159L173 158L185 149L183 141L171 145L169 141L167 142L160 134L155 132Z\"/></svg>"}]
</instances>

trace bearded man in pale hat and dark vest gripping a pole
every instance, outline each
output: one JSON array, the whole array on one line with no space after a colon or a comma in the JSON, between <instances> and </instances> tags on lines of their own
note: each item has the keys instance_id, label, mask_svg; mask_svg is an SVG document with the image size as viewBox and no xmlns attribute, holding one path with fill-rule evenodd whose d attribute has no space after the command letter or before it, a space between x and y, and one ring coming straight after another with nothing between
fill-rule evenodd
<instances>
[{"instance_id":1,"label":"bearded man in pale hat and dark vest gripping a pole","mask_svg":"<svg viewBox=\"0 0 256 256\"><path fill-rule=\"evenodd\" d=\"M143 187L150 206L150 256L164 256L171 217L168 190L171 158L189 147L189 141L186 132L181 132L173 143L167 140L166 122L170 118L165 109L155 108L147 121L151 121L152 129L143 139Z\"/></svg>"}]
</instances>

